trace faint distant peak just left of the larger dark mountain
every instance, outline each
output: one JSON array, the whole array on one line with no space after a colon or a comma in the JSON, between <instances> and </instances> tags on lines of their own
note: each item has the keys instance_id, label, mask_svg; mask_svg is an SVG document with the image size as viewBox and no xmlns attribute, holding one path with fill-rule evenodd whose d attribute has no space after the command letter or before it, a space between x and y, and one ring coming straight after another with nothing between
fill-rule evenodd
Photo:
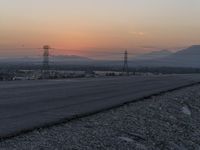
<instances>
[{"instance_id":1,"label":"faint distant peak just left of the larger dark mountain","mask_svg":"<svg viewBox=\"0 0 200 150\"><path fill-rule=\"evenodd\" d=\"M153 51L150 53L138 55L134 57L134 60L152 60L152 59L160 59L172 55L173 53L169 50L161 50L161 51Z\"/></svg>"}]
</instances>

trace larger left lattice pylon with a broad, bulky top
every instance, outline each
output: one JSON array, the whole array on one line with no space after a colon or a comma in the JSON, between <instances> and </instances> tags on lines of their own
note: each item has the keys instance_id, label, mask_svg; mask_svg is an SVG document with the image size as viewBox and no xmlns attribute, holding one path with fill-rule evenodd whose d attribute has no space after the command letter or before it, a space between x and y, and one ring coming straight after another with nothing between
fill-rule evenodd
<instances>
[{"instance_id":1,"label":"larger left lattice pylon with a broad, bulky top","mask_svg":"<svg viewBox=\"0 0 200 150\"><path fill-rule=\"evenodd\" d=\"M44 45L43 46L43 67L42 67L42 76L43 79L49 78L49 45Z\"/></svg>"}]
</instances>

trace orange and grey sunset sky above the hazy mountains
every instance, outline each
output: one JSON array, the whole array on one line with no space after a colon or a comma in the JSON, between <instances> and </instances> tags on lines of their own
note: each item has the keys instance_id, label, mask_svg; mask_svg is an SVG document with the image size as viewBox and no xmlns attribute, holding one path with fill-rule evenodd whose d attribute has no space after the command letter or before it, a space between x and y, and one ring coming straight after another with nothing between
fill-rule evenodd
<instances>
[{"instance_id":1,"label":"orange and grey sunset sky above the hazy mountains","mask_svg":"<svg viewBox=\"0 0 200 150\"><path fill-rule=\"evenodd\" d=\"M178 50L200 44L199 8L200 0L1 0L0 55L35 55L29 48L44 44L66 49L56 54Z\"/></svg>"}]
</instances>

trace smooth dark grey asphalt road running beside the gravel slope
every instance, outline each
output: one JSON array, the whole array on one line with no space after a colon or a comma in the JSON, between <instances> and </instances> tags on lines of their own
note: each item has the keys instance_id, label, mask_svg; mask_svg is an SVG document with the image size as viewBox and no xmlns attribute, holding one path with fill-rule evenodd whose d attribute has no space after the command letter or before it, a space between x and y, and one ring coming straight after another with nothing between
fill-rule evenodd
<instances>
[{"instance_id":1,"label":"smooth dark grey asphalt road running beside the gravel slope","mask_svg":"<svg viewBox=\"0 0 200 150\"><path fill-rule=\"evenodd\" d=\"M200 82L200 75L0 82L0 138Z\"/></svg>"}]
</instances>

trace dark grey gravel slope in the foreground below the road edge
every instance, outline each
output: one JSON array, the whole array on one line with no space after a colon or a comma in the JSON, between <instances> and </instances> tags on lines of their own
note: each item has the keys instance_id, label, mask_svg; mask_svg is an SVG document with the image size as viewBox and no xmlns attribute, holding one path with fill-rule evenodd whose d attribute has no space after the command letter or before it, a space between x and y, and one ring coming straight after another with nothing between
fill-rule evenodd
<instances>
[{"instance_id":1,"label":"dark grey gravel slope in the foreground below the road edge","mask_svg":"<svg viewBox=\"0 0 200 150\"><path fill-rule=\"evenodd\" d=\"M0 149L200 150L200 85L35 130Z\"/></svg>"}]
</instances>

